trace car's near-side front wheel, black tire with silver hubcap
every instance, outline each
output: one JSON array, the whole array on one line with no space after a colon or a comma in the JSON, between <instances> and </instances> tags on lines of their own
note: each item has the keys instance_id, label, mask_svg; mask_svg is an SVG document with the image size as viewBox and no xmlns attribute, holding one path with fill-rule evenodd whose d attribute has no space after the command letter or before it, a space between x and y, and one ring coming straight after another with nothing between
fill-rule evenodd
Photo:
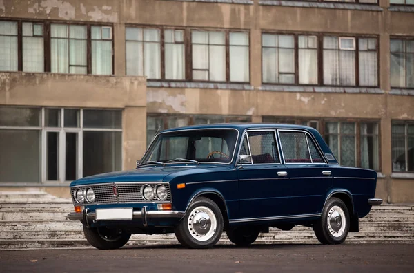
<instances>
[{"instance_id":1,"label":"car's near-side front wheel, black tire with silver hubcap","mask_svg":"<svg viewBox=\"0 0 414 273\"><path fill-rule=\"evenodd\" d=\"M201 208L201 210L198 211L196 210L197 208ZM211 217L207 215L208 217L206 218L207 213L213 215L211 215ZM216 223L215 229L213 228L213 217ZM198 218L199 221L197 221L196 218ZM208 225L208 219L210 219L210 226ZM184 216L179 225L175 227L175 236L179 243L184 247L210 248L219 241L221 234L223 233L223 227L224 220L219 206L217 206L213 200L205 197L198 197L188 207L186 216ZM203 232L206 232L206 234L203 234Z\"/></svg>"}]
</instances>

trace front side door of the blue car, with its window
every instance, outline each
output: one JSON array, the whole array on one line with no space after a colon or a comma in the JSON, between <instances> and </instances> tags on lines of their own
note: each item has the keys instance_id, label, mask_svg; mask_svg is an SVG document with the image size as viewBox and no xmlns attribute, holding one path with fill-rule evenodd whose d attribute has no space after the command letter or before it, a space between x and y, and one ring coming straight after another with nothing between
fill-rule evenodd
<instances>
[{"instance_id":1,"label":"front side door of the blue car, with its window","mask_svg":"<svg viewBox=\"0 0 414 273\"><path fill-rule=\"evenodd\" d=\"M240 155L250 163L237 167L239 177L239 217L242 222L272 220L290 213L286 167L281 163L275 130L251 130L244 134ZM279 174L278 174L279 173Z\"/></svg>"}]
</instances>

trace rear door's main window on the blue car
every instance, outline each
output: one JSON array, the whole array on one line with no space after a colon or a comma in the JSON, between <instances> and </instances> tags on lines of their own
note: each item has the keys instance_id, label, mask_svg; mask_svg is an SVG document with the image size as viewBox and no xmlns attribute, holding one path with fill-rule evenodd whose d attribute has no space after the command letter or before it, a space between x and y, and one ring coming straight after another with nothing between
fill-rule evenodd
<instances>
[{"instance_id":1,"label":"rear door's main window on the blue car","mask_svg":"<svg viewBox=\"0 0 414 273\"><path fill-rule=\"evenodd\" d=\"M283 156L286 163L311 163L306 134L293 131L279 131Z\"/></svg>"}]
</instances>

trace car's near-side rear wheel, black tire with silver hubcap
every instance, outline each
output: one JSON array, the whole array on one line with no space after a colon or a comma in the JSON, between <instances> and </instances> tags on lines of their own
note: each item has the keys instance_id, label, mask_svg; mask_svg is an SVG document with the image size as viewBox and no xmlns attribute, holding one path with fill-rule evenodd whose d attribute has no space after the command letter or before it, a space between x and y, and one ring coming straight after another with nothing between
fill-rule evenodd
<instances>
[{"instance_id":1,"label":"car's near-side rear wheel, black tire with silver hubcap","mask_svg":"<svg viewBox=\"0 0 414 273\"><path fill-rule=\"evenodd\" d=\"M338 207L340 209L337 209ZM340 214L341 210L344 217ZM338 214L341 217L338 218ZM329 223L328 216L331 217ZM345 218L345 225L342 218ZM324 245L337 245L345 241L346 236L348 236L349 226L350 218L348 207L346 207L341 199L333 197L326 202L321 218L317 220L317 223L313 226L313 230L319 242Z\"/></svg>"}]
</instances>

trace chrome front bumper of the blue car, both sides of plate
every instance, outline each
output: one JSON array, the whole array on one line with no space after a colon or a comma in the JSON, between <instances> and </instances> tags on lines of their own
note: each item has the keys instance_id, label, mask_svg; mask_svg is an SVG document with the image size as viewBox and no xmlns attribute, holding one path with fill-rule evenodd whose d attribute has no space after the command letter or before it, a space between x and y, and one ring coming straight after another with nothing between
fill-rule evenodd
<instances>
[{"instance_id":1,"label":"chrome front bumper of the blue car, both sides of plate","mask_svg":"<svg viewBox=\"0 0 414 273\"><path fill-rule=\"evenodd\" d=\"M184 211L147 211L147 207L143 207L141 211L133 211L132 218L142 219L144 227L147 226L148 218L183 218L186 215ZM83 220L87 226L91 222L95 222L95 212L88 212L88 209L83 209L83 212L71 212L68 214L69 220Z\"/></svg>"}]
</instances>

